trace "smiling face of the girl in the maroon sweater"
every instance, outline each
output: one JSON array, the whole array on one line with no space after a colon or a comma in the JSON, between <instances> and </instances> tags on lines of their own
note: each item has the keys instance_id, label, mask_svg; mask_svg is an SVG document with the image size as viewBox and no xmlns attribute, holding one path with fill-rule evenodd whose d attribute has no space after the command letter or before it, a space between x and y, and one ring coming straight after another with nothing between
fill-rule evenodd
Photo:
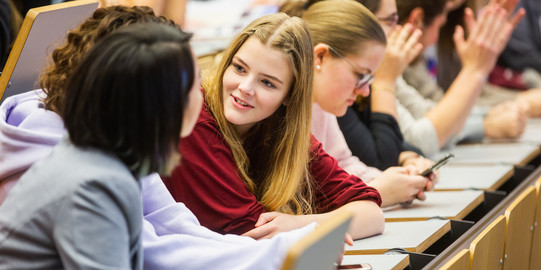
<instances>
[{"instance_id":1,"label":"smiling face of the girl in the maroon sweater","mask_svg":"<svg viewBox=\"0 0 541 270\"><path fill-rule=\"evenodd\" d=\"M250 37L223 77L224 114L243 135L284 103L293 81L286 55Z\"/></svg>"}]
</instances>

